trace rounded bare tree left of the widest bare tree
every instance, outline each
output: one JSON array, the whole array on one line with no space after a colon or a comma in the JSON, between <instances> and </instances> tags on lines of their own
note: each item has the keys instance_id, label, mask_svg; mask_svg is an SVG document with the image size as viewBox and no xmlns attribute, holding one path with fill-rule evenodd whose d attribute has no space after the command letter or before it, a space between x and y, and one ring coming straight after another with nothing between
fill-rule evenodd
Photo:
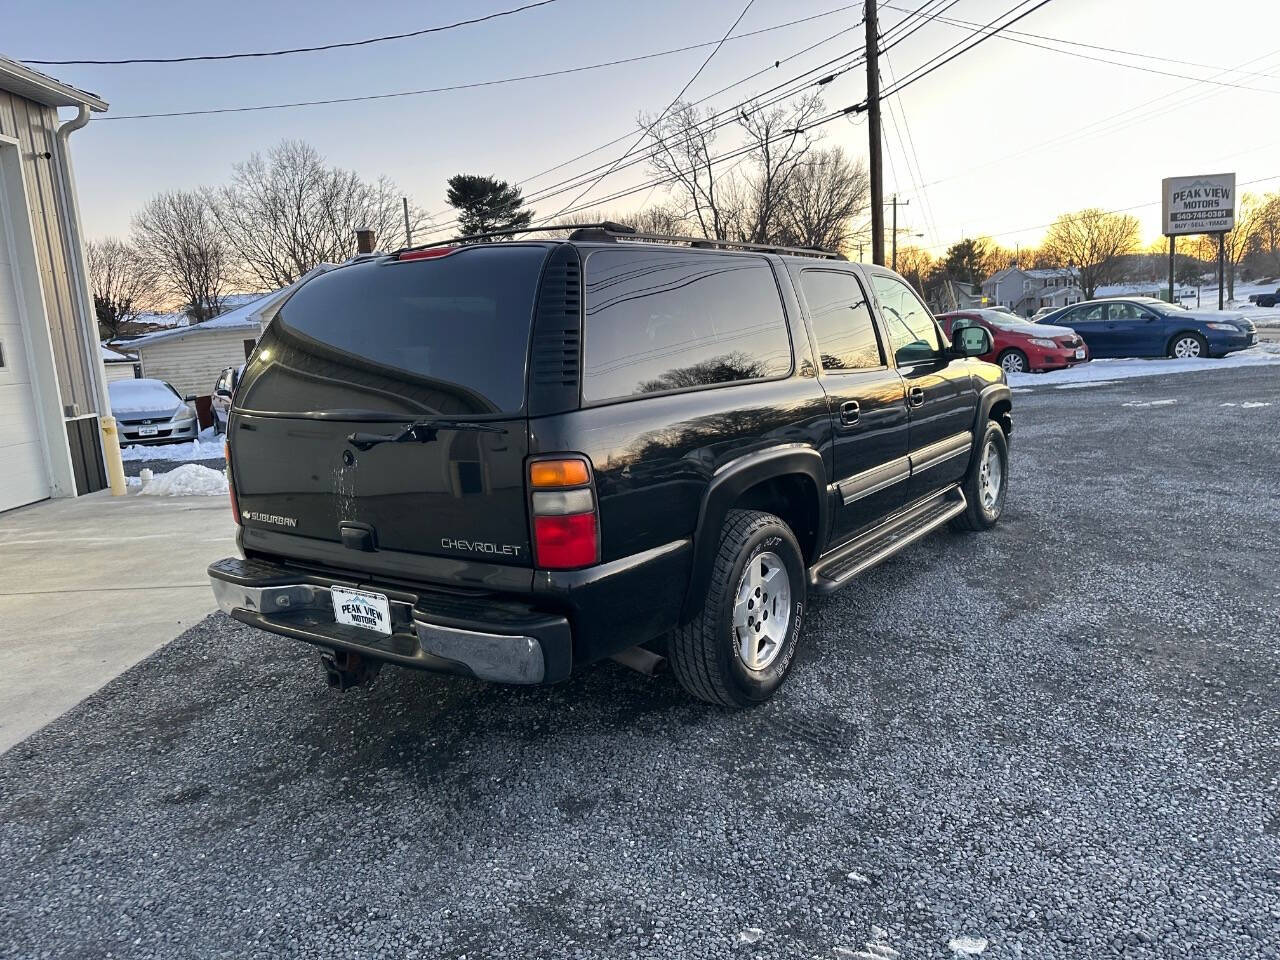
<instances>
[{"instance_id":1,"label":"rounded bare tree left of the widest bare tree","mask_svg":"<svg viewBox=\"0 0 1280 960\"><path fill-rule=\"evenodd\" d=\"M133 218L133 246L160 292L180 300L192 320L221 312L233 253L205 196L169 191L152 197Z\"/></svg>"}]
</instances>

